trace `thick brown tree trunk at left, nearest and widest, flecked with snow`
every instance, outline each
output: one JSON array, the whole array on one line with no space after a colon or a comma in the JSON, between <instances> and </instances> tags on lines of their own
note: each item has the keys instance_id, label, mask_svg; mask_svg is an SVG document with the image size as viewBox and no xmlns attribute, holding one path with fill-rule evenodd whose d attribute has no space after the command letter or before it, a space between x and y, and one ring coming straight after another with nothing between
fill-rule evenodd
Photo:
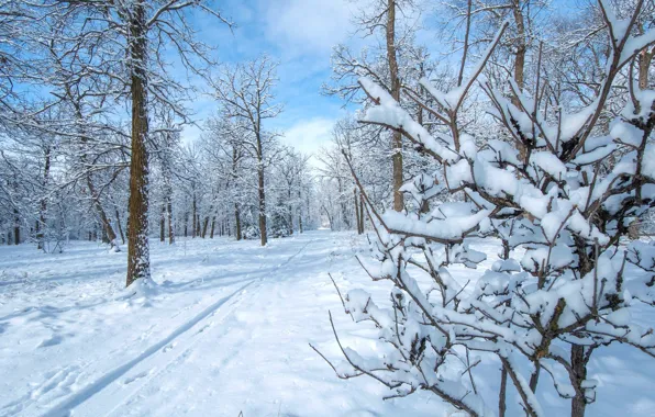
<instances>
[{"instance_id":1,"label":"thick brown tree trunk at left, nearest and widest, flecked with snow","mask_svg":"<svg viewBox=\"0 0 655 417\"><path fill-rule=\"evenodd\" d=\"M130 16L130 56L132 58L132 158L130 164L130 227L127 229L129 286L137 279L151 278L148 248L148 156L147 119L147 26L143 1L133 4Z\"/></svg>"}]
</instances>

